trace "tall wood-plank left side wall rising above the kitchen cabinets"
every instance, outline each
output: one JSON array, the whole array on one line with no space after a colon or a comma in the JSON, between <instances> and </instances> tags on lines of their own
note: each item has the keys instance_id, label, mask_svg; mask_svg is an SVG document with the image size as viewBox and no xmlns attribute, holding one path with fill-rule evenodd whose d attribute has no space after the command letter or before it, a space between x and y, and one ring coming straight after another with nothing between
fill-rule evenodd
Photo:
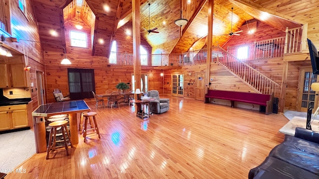
<instances>
[{"instance_id":1,"label":"tall wood-plank left side wall rising above the kitchen cabinets","mask_svg":"<svg viewBox=\"0 0 319 179\"><path fill-rule=\"evenodd\" d=\"M11 36L19 40L18 42L6 40L3 42L3 46L11 51L15 51L17 55L23 56L24 54L27 65L31 67L29 71L30 83L34 84L34 86L31 87L31 99L33 100L32 109L35 109L38 107L36 72L44 72L44 60L41 44L25 41L39 41L40 39L32 2L30 0L26 0L25 2L27 9L26 15L18 8L17 0L10 0ZM14 53L12 54L14 55Z\"/></svg>"}]
</instances>

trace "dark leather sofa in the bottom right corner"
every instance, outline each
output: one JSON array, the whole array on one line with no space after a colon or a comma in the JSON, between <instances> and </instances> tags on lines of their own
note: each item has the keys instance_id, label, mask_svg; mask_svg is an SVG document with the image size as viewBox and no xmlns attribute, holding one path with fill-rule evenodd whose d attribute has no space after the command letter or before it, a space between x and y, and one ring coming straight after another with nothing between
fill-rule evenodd
<instances>
[{"instance_id":1,"label":"dark leather sofa in the bottom right corner","mask_svg":"<svg viewBox=\"0 0 319 179\"><path fill-rule=\"evenodd\" d=\"M274 147L248 179L319 179L319 132L296 128Z\"/></svg>"}]
</instances>

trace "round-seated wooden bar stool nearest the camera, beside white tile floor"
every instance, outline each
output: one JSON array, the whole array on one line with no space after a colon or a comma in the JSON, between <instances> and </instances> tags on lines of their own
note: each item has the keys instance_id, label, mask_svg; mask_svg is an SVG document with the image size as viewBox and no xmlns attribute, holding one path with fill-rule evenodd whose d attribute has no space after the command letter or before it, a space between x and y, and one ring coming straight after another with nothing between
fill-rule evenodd
<instances>
[{"instance_id":1,"label":"round-seated wooden bar stool nearest the camera, beside white tile floor","mask_svg":"<svg viewBox=\"0 0 319 179\"><path fill-rule=\"evenodd\" d=\"M70 134L69 134L69 130L67 128L67 123L68 121L65 121L65 120L58 120L58 121L54 121L54 122L51 122L49 124L49 127L51 127L51 131L50 131L50 136L49 136L49 142L48 142L48 147L47 147L47 155L46 155L46 159L49 159L49 153L51 150L55 150L56 148L61 148L59 146L56 146L56 142L62 142L64 141L64 146L65 146L65 150L66 150L66 155L69 155L68 153L68 145L70 144L71 148L73 147L72 146L72 143L71 143L71 139L70 139ZM56 141L56 135L57 135L57 128L61 127L61 130L62 130L62 135L63 135L63 140L61 141ZM65 133L67 134L68 136L68 142L66 141L66 136L65 136ZM53 139L52 139L53 137Z\"/></svg>"}]
</instances>

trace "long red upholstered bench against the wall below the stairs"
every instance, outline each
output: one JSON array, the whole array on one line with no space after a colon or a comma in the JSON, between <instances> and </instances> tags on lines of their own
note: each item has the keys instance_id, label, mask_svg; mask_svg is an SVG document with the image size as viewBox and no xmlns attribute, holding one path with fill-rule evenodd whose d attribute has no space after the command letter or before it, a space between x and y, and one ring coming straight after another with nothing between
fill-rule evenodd
<instances>
[{"instance_id":1,"label":"long red upholstered bench against the wall below the stairs","mask_svg":"<svg viewBox=\"0 0 319 179\"><path fill-rule=\"evenodd\" d=\"M270 114L273 112L273 97L273 94L208 89L207 94L205 94L205 103L209 103L209 98L218 98L230 100L231 107L234 107L234 101L258 104L266 106L265 113Z\"/></svg>"}]
</instances>

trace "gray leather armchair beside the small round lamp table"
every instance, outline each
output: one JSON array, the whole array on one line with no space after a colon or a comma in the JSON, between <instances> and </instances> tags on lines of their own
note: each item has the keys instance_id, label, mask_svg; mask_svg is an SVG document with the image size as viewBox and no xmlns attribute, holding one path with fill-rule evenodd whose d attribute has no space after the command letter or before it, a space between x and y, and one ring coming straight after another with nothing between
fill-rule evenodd
<instances>
[{"instance_id":1,"label":"gray leather armchair beside the small round lamp table","mask_svg":"<svg viewBox=\"0 0 319 179\"><path fill-rule=\"evenodd\" d=\"M148 91L148 96L151 98L155 98L154 101L150 101L149 107L152 113L160 114L168 111L169 109L169 99L162 98L160 99L158 90L150 90Z\"/></svg>"}]
</instances>

